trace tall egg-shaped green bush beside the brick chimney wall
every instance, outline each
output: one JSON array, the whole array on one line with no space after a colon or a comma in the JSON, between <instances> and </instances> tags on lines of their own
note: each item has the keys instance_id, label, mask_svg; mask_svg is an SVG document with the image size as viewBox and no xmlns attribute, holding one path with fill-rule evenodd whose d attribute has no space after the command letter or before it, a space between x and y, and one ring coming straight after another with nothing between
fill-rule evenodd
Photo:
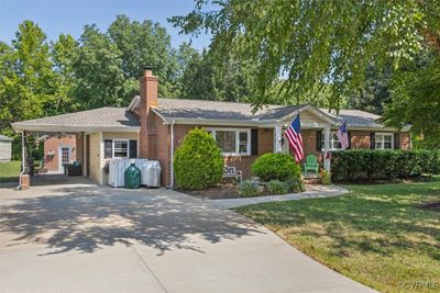
<instances>
[{"instance_id":1,"label":"tall egg-shaped green bush beside the brick chimney wall","mask_svg":"<svg viewBox=\"0 0 440 293\"><path fill-rule=\"evenodd\" d=\"M212 136L204 128L190 131L174 157L177 185L186 190L207 189L220 182L223 158Z\"/></svg>"}]
</instances>

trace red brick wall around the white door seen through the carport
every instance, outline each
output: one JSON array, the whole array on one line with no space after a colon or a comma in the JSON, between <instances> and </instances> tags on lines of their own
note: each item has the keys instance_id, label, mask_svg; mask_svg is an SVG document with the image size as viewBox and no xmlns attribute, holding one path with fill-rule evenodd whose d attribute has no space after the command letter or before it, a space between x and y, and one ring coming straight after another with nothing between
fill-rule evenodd
<instances>
[{"instance_id":1,"label":"red brick wall around the white door seen through the carport","mask_svg":"<svg viewBox=\"0 0 440 293\"><path fill-rule=\"evenodd\" d=\"M44 168L48 171L58 170L59 146L70 146L70 161L77 159L77 140L76 135L67 135L64 137L51 136L44 140ZM47 155L48 151L54 151L53 156ZM80 156L82 148L80 149Z\"/></svg>"}]
</instances>

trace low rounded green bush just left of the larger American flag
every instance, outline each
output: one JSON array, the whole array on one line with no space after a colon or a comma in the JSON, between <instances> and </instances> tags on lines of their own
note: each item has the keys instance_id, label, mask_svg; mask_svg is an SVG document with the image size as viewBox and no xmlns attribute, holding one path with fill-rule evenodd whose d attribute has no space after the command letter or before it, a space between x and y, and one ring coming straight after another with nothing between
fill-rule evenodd
<instances>
[{"instance_id":1,"label":"low rounded green bush just left of the larger American flag","mask_svg":"<svg viewBox=\"0 0 440 293\"><path fill-rule=\"evenodd\" d=\"M286 154L265 154L252 164L252 172L263 181L300 178L301 168Z\"/></svg>"}]
</instances>

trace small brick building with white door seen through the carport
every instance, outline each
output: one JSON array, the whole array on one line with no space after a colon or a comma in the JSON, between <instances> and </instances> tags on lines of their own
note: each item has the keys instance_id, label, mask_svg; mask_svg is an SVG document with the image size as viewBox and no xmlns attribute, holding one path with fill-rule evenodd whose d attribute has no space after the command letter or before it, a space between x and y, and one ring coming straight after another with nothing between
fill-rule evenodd
<instances>
[{"instance_id":1,"label":"small brick building with white door seen through the carport","mask_svg":"<svg viewBox=\"0 0 440 293\"><path fill-rule=\"evenodd\" d=\"M64 172L63 165L76 161L77 134L52 135L44 139L44 168L48 172Z\"/></svg>"}]
</instances>

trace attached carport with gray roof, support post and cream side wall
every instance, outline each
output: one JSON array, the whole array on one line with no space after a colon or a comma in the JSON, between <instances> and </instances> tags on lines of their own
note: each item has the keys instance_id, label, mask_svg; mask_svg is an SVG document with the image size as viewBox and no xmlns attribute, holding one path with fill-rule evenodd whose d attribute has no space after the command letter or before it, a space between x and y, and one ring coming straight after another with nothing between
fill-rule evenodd
<instances>
[{"instance_id":1,"label":"attached carport with gray roof, support post and cream side wall","mask_svg":"<svg viewBox=\"0 0 440 293\"><path fill-rule=\"evenodd\" d=\"M113 158L114 147L108 150L108 142L122 139L135 142L139 154L140 124L135 114L124 108L100 108L76 113L21 121L12 124L15 132L22 135L22 174L29 173L28 139L30 136L75 135L76 160L82 166L82 176L95 183L107 183L106 161ZM127 154L129 153L125 150ZM131 153L131 149L130 149ZM138 156L138 154L135 154Z\"/></svg>"}]
</instances>

